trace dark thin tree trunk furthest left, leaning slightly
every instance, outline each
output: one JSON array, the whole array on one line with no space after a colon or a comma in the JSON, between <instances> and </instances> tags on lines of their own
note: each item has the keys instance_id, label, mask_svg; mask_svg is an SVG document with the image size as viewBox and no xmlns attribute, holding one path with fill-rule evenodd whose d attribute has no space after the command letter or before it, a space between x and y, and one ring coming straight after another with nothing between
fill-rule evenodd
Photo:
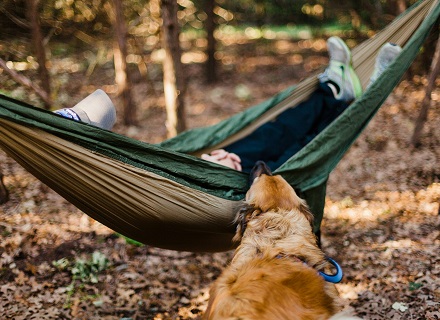
<instances>
[{"instance_id":1,"label":"dark thin tree trunk furthest left, leaning slightly","mask_svg":"<svg viewBox=\"0 0 440 320\"><path fill-rule=\"evenodd\" d=\"M50 78L49 72L46 68L46 51L43 44L43 35L41 33L40 19L39 19L39 0L29 0L28 14L31 22L32 42L35 50L35 55L38 62L38 73L41 81L41 88L46 91L48 99L50 99ZM44 106L50 109L51 103L45 101Z\"/></svg>"}]
</instances>

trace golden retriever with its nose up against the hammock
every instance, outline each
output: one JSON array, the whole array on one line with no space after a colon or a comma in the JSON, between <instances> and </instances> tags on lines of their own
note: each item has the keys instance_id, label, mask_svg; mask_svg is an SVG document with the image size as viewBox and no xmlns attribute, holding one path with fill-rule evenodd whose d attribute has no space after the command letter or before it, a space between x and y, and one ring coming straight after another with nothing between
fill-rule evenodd
<instances>
[{"instance_id":1,"label":"golden retriever with its nose up against the hammock","mask_svg":"<svg viewBox=\"0 0 440 320\"><path fill-rule=\"evenodd\" d=\"M336 288L323 278L332 264L305 201L264 162L251 180L237 215L234 240L241 243L210 290L204 319L358 319L339 313Z\"/></svg>"}]
</instances>

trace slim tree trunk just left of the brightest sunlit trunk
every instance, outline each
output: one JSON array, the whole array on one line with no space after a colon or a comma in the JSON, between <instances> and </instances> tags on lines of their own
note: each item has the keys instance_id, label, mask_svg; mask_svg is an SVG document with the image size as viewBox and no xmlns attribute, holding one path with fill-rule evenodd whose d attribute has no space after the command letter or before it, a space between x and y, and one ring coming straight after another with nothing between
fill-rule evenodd
<instances>
[{"instance_id":1,"label":"slim tree trunk just left of the brightest sunlit trunk","mask_svg":"<svg viewBox=\"0 0 440 320\"><path fill-rule=\"evenodd\" d=\"M127 68L127 28L125 26L124 9L121 0L113 0L115 11L115 36L113 46L115 62L115 82L124 106L124 124L136 125L136 107L131 95L130 74Z\"/></svg>"}]
</instances>

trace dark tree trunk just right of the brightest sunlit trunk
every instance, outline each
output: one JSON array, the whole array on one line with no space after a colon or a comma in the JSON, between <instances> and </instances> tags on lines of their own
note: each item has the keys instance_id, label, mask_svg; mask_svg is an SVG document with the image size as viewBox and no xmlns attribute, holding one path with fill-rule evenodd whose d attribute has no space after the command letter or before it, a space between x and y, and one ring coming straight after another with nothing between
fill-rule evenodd
<instances>
[{"instance_id":1,"label":"dark tree trunk just right of the brightest sunlit trunk","mask_svg":"<svg viewBox=\"0 0 440 320\"><path fill-rule=\"evenodd\" d=\"M215 21L214 21L214 6L215 0L205 0L205 10L207 14L207 18L205 20L205 30L207 33L208 46L206 49L206 54L208 59L206 60L205 68L206 68L206 82L214 83L217 81L217 63L215 61Z\"/></svg>"}]
</instances>

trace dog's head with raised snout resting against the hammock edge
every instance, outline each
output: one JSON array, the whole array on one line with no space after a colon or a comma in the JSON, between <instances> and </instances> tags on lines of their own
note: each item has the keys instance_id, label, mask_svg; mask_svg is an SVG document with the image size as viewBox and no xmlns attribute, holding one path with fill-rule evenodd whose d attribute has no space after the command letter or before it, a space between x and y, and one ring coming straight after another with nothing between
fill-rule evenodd
<instances>
[{"instance_id":1,"label":"dog's head with raised snout resting against the hammock edge","mask_svg":"<svg viewBox=\"0 0 440 320\"><path fill-rule=\"evenodd\" d=\"M272 175L269 167L258 161L250 173L250 188L246 193L245 205L237 216L237 234L235 241L241 239L246 224L253 217L269 211L296 210L304 214L310 225L313 215L306 202L298 197L292 186L279 175Z\"/></svg>"}]
</instances>

